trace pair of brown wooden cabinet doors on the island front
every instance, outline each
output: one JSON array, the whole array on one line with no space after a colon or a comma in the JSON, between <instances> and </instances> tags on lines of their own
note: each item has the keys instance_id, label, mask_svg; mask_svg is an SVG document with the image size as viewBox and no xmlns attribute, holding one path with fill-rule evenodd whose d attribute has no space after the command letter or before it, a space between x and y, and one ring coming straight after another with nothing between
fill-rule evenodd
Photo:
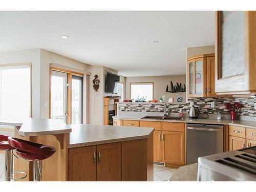
<instances>
[{"instance_id":1,"label":"pair of brown wooden cabinet doors on the island front","mask_svg":"<svg viewBox=\"0 0 256 192\"><path fill-rule=\"evenodd\" d=\"M69 149L69 181L121 181L121 142Z\"/></svg>"}]
</instances>

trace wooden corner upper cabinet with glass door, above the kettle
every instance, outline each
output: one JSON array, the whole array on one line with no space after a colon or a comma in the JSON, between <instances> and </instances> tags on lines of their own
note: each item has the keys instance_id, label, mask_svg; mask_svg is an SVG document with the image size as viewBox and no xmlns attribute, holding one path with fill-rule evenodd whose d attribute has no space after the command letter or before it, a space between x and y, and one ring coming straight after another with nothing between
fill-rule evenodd
<instances>
[{"instance_id":1,"label":"wooden corner upper cabinet with glass door, above the kettle","mask_svg":"<svg viewBox=\"0 0 256 192\"><path fill-rule=\"evenodd\" d=\"M188 96L214 97L215 54L202 54L187 59Z\"/></svg>"}]
</instances>

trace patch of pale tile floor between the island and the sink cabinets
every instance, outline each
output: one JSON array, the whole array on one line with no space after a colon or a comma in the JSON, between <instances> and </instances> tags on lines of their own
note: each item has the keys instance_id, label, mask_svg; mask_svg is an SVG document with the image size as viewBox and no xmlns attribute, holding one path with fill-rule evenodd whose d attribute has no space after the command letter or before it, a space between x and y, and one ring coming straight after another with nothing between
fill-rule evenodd
<instances>
[{"instance_id":1,"label":"patch of pale tile floor between the island and the sink cabinets","mask_svg":"<svg viewBox=\"0 0 256 192\"><path fill-rule=\"evenodd\" d=\"M154 165L154 181L168 181L177 168Z\"/></svg>"}]
</instances>

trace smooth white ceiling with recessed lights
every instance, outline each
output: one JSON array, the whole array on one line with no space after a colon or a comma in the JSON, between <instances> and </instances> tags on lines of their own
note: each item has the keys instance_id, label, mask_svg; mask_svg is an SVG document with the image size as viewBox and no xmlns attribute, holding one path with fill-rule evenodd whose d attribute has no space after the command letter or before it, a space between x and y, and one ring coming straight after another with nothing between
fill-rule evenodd
<instances>
[{"instance_id":1,"label":"smooth white ceiling with recessed lights","mask_svg":"<svg viewBox=\"0 0 256 192\"><path fill-rule=\"evenodd\" d=\"M214 11L0 11L0 51L46 49L124 76L184 74L187 47L214 45L214 15ZM153 44L154 40L159 43Z\"/></svg>"}]
</instances>

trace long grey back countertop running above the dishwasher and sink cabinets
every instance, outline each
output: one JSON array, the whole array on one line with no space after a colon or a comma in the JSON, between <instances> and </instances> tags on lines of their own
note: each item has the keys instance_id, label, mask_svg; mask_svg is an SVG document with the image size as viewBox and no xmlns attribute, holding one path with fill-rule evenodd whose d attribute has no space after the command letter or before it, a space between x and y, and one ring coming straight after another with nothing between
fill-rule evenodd
<instances>
[{"instance_id":1,"label":"long grey back countertop running above the dishwasher and sink cabinets","mask_svg":"<svg viewBox=\"0 0 256 192\"><path fill-rule=\"evenodd\" d=\"M234 125L234 126L244 126L252 129L256 129L256 122L254 121L244 121L244 120L229 120L229 119L189 119L185 118L184 120L172 120L172 119L141 119L141 118L123 118L114 116L113 119L119 120L137 120L137 121L163 121L163 122L183 122L183 123L204 123L204 124L227 124L227 125Z\"/></svg>"}]
</instances>

